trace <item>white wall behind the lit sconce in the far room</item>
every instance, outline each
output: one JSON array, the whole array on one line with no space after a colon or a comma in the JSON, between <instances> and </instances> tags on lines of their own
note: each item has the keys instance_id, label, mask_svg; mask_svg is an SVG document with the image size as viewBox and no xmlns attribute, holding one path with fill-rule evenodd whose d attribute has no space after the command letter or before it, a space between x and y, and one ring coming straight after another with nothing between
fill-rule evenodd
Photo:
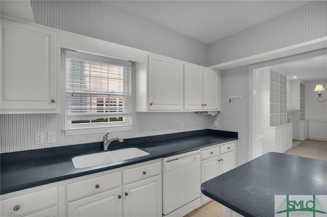
<instances>
[{"instance_id":1,"label":"white wall behind the lit sconce in the far room","mask_svg":"<svg viewBox=\"0 0 327 217\"><path fill-rule=\"evenodd\" d=\"M327 72L326 72L327 73ZM322 84L325 91L322 91L322 98L327 99L327 84L321 81L305 83L305 119L306 120L327 120L327 101L318 102L316 85Z\"/></svg>"}]
</instances>

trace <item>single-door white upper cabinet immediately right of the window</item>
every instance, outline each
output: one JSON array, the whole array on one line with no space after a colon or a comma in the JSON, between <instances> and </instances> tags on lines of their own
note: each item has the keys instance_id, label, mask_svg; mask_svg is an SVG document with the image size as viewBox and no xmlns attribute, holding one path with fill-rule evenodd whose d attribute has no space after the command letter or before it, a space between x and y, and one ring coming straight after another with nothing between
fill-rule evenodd
<instances>
[{"instance_id":1,"label":"single-door white upper cabinet immediately right of the window","mask_svg":"<svg viewBox=\"0 0 327 217\"><path fill-rule=\"evenodd\" d=\"M183 62L149 55L136 63L136 112L170 112L183 109Z\"/></svg>"}]
</instances>

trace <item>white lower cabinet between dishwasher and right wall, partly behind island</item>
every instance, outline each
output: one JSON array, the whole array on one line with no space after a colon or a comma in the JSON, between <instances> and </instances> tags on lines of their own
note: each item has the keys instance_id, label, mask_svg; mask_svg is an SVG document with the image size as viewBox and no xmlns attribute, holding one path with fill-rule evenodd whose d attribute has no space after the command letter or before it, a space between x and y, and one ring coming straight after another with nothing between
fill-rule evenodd
<instances>
[{"instance_id":1,"label":"white lower cabinet between dishwasher and right wall, partly behind island","mask_svg":"<svg viewBox=\"0 0 327 217\"><path fill-rule=\"evenodd\" d=\"M235 144L236 142L231 142L201 150L201 183L235 168ZM201 194L202 205L210 200Z\"/></svg>"}]
</instances>

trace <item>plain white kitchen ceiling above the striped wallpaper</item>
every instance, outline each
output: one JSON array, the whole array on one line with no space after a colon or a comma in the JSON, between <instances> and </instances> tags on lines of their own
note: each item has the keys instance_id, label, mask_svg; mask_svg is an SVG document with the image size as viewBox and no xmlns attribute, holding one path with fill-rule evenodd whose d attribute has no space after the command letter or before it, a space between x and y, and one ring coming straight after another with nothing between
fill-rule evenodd
<instances>
[{"instance_id":1,"label":"plain white kitchen ceiling above the striped wallpaper","mask_svg":"<svg viewBox=\"0 0 327 217\"><path fill-rule=\"evenodd\" d=\"M310 1L102 1L205 44Z\"/></svg>"}]
</instances>

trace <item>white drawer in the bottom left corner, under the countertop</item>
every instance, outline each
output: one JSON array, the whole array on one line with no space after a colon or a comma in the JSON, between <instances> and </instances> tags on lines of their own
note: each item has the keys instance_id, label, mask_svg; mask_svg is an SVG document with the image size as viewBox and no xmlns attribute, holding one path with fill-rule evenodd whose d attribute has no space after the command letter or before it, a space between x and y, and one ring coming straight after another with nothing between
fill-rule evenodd
<instances>
[{"instance_id":1,"label":"white drawer in the bottom left corner, under the countertop","mask_svg":"<svg viewBox=\"0 0 327 217\"><path fill-rule=\"evenodd\" d=\"M20 195L1 201L1 216L24 216L33 212L56 206L58 189L52 187L38 192ZM15 210L16 211L15 211ZM57 210L53 215L55 216Z\"/></svg>"}]
</instances>

